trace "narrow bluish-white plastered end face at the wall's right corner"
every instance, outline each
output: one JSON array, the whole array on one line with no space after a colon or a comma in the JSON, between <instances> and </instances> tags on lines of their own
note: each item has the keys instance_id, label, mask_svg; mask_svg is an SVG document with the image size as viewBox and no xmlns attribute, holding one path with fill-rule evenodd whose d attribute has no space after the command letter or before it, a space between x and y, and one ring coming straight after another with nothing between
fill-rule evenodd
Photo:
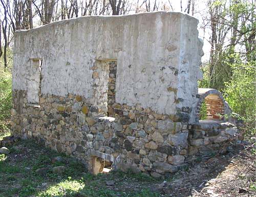
<instances>
[{"instance_id":1,"label":"narrow bluish-white plastered end face at the wall's right corner","mask_svg":"<svg viewBox=\"0 0 256 197\"><path fill-rule=\"evenodd\" d=\"M177 107L190 107L190 122L195 121L192 116L198 102L198 81L203 79L200 70L201 57L203 56L203 41L198 38L198 30L195 28L198 21L188 15L181 17L181 46L178 71L177 97L183 101Z\"/></svg>"}]
</instances>

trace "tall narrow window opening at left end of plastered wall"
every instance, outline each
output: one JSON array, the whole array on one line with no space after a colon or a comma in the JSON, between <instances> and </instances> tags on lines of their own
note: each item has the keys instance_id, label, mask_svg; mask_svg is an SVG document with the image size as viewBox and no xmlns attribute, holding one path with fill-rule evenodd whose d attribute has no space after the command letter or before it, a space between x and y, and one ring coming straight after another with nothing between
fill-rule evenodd
<instances>
[{"instance_id":1,"label":"tall narrow window opening at left end of plastered wall","mask_svg":"<svg viewBox=\"0 0 256 197\"><path fill-rule=\"evenodd\" d=\"M30 70L28 79L28 103L32 105L39 104L39 95L41 93L41 65L42 60L40 58L30 59Z\"/></svg>"}]
</instances>

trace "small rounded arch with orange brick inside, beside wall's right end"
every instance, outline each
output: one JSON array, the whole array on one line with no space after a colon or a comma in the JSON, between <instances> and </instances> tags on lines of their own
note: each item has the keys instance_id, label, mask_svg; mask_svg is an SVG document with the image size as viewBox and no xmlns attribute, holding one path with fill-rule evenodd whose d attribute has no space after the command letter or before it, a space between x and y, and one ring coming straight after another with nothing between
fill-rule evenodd
<instances>
[{"instance_id":1,"label":"small rounded arch with orange brick inside, beside wall's right end","mask_svg":"<svg viewBox=\"0 0 256 197\"><path fill-rule=\"evenodd\" d=\"M205 102L207 108L207 119L221 119L220 115L229 115L231 109L225 101L221 92L211 88L198 88L199 101L196 106L196 121L199 120L199 114L202 103ZM220 114L220 115L218 115Z\"/></svg>"}]
</instances>

